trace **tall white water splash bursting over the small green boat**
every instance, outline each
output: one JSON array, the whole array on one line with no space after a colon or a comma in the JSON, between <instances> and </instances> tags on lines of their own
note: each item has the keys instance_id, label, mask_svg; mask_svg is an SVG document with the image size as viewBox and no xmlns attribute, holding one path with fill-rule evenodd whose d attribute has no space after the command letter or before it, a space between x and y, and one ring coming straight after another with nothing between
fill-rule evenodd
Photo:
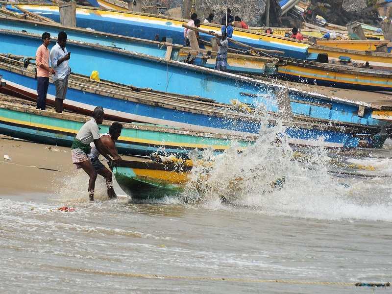
<instances>
[{"instance_id":1,"label":"tall white water splash bursting over the small green boat","mask_svg":"<svg viewBox=\"0 0 392 294\"><path fill-rule=\"evenodd\" d=\"M321 147L298 157L287 136L281 135L285 126L277 120L275 126L267 127L270 119L264 112L259 140L242 152L237 143L218 156L204 151L202 162L207 164L194 167L182 194L184 201L220 209L223 200L233 209L245 207L274 216L392 221L390 202L363 201L363 194L374 184L356 191L355 182L362 179L346 184L347 179L332 175L328 172L331 158Z\"/></svg>"}]
</instances>

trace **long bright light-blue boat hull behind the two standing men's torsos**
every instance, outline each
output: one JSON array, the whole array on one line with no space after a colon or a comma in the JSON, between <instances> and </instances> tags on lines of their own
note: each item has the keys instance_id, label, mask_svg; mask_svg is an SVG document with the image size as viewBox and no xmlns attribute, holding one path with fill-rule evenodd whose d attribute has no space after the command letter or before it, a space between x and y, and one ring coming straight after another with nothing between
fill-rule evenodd
<instances>
[{"instance_id":1,"label":"long bright light-blue boat hull behind the two standing men's torsos","mask_svg":"<svg viewBox=\"0 0 392 294\"><path fill-rule=\"evenodd\" d=\"M41 36L24 32L0 30L0 38L0 52L19 55L35 55L41 43ZM277 112L276 97L286 90L283 86L262 80L117 48L70 41L67 49L72 51L73 72L90 75L92 71L98 71L105 80L214 99L219 103L229 104L230 100L238 99L252 105L263 103L267 110ZM370 104L303 93L295 89L289 89L288 95L294 114L342 123L382 124L371 118L374 107ZM358 112L359 107L365 108L363 113Z\"/></svg>"}]
</instances>

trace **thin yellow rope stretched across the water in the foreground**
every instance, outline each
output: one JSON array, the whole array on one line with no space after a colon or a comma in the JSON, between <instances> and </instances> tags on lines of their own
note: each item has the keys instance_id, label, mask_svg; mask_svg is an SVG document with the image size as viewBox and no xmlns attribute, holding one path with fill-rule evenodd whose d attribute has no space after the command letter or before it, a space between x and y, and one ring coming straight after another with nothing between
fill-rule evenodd
<instances>
[{"instance_id":1,"label":"thin yellow rope stretched across the water in the foreground","mask_svg":"<svg viewBox=\"0 0 392 294\"><path fill-rule=\"evenodd\" d=\"M63 270L73 270L78 272L92 273L98 275L112 275L130 278L146 279L172 279L172 280L197 280L197 281L215 281L215 282L237 282L237 283L281 283L297 285L327 285L327 286L357 286L357 287L390 287L391 283L347 283L347 282L319 282L319 281L295 281L295 280L264 280L264 279L244 279L244 278L225 278L225 277L203 277L203 276L182 276L182 275L164 275L164 274L143 274L132 272L103 271L91 269L75 269L68 267L56 267Z\"/></svg>"}]
</instances>

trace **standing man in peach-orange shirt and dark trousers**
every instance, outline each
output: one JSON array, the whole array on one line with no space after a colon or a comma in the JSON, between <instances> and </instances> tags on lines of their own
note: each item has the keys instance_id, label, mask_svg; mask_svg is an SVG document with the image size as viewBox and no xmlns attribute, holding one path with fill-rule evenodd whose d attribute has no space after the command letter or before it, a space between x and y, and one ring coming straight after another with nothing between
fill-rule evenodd
<instances>
[{"instance_id":1,"label":"standing man in peach-orange shirt and dark trousers","mask_svg":"<svg viewBox=\"0 0 392 294\"><path fill-rule=\"evenodd\" d=\"M49 67L50 34L42 34L42 45L35 53L35 64L37 65L37 109L46 110L46 95L49 87L49 73L54 74Z\"/></svg>"}]
</instances>

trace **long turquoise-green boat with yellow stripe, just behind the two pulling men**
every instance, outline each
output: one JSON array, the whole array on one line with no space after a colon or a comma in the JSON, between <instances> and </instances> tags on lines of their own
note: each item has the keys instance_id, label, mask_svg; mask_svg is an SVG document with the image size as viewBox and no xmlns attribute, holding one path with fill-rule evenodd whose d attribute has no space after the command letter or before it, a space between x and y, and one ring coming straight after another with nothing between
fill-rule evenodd
<instances>
[{"instance_id":1,"label":"long turquoise-green boat with yellow stripe, just behind the two pulling men","mask_svg":"<svg viewBox=\"0 0 392 294\"><path fill-rule=\"evenodd\" d=\"M80 127L89 119L81 115L59 114L0 102L0 134L37 143L70 147ZM110 121L104 121L100 132L108 132L110 124ZM187 157L188 152L193 149L209 148L220 153L233 141L239 142L240 147L245 147L256 139L255 135L229 136L152 124L124 123L116 146L119 152L125 155L166 152Z\"/></svg>"}]
</instances>

